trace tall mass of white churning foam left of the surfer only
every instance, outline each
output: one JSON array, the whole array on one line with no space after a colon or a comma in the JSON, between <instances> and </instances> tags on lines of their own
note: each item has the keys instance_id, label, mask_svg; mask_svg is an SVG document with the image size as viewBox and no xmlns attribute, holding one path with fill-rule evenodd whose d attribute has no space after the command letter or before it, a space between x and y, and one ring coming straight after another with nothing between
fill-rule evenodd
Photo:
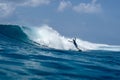
<instances>
[{"instance_id":1,"label":"tall mass of white churning foam left of the surfer only","mask_svg":"<svg viewBox=\"0 0 120 80\"><path fill-rule=\"evenodd\" d=\"M41 45L48 46L50 48L62 49L62 50L76 50L74 45L61 36L57 31L47 25L42 27L32 27L30 30L24 29L29 38Z\"/></svg>"}]
</instances>

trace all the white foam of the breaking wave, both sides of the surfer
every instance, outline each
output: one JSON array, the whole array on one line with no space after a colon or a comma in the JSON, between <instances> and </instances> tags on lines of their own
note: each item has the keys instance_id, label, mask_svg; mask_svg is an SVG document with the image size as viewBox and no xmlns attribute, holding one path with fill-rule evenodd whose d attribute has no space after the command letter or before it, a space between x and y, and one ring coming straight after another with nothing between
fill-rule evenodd
<instances>
[{"instance_id":1,"label":"all the white foam of the breaking wave, both sides of the surfer","mask_svg":"<svg viewBox=\"0 0 120 80\"><path fill-rule=\"evenodd\" d=\"M62 50L77 50L73 43L69 42L72 38L61 36L56 30L47 25L41 27L32 27L24 29L24 32L29 38L41 45L46 45L50 48ZM107 44L97 44L76 39L77 44L82 50L113 50L120 51L120 46L112 46Z\"/></svg>"}]
</instances>

